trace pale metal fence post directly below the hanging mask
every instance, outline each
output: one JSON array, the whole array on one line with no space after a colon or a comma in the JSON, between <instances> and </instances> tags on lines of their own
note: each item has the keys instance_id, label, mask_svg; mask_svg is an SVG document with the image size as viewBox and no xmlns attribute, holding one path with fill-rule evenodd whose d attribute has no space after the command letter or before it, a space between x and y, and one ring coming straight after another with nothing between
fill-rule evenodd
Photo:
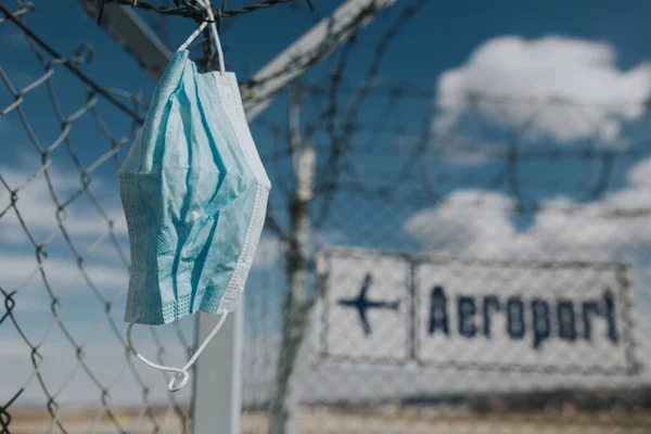
<instances>
[{"instance_id":1,"label":"pale metal fence post directly below the hanging mask","mask_svg":"<svg viewBox=\"0 0 651 434\"><path fill-rule=\"evenodd\" d=\"M221 330L196 361L194 375L193 434L239 434L242 413L243 301L228 316ZM202 342L218 316L197 315L197 337Z\"/></svg>"}]
</instances>

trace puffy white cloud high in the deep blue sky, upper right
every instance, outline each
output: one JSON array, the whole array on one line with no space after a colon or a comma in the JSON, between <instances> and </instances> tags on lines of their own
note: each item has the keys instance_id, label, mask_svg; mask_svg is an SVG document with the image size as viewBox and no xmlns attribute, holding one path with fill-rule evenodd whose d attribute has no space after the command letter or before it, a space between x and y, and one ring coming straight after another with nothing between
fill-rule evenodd
<instances>
[{"instance_id":1,"label":"puffy white cloud high in the deep blue sky, upper right","mask_svg":"<svg viewBox=\"0 0 651 434\"><path fill-rule=\"evenodd\" d=\"M585 106L477 103L488 120L507 128L523 128L560 142L593 136L612 144L622 125L638 118L641 102L651 94L651 64L622 71L608 43L548 36L525 40L518 36L490 39L465 64L438 79L435 119L438 133L449 132L469 110L473 95L513 97L519 100L572 100Z\"/></svg>"}]
</instances>

